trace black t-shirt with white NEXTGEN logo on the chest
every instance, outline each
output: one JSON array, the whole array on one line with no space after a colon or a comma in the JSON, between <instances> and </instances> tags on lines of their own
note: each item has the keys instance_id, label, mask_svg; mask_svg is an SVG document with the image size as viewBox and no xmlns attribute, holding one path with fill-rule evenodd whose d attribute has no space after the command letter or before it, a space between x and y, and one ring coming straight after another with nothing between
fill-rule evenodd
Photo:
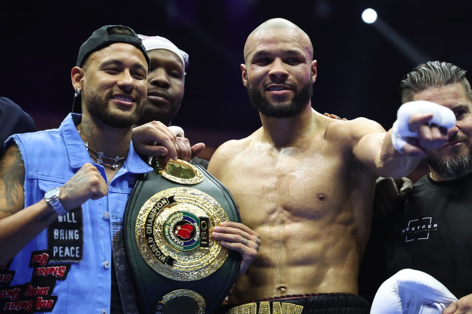
<instances>
[{"instance_id":1,"label":"black t-shirt with white NEXTGEN logo on the chest","mask_svg":"<svg viewBox=\"0 0 472 314\"><path fill-rule=\"evenodd\" d=\"M457 298L472 293L472 174L444 182L424 176L385 231L388 277L412 268Z\"/></svg>"}]
</instances>

